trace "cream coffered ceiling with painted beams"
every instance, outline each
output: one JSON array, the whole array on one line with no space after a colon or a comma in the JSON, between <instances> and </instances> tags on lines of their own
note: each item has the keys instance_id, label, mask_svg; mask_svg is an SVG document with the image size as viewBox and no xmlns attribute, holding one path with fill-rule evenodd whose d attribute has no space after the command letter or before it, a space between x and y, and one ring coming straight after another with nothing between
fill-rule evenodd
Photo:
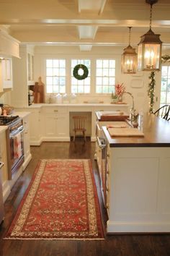
<instances>
[{"instance_id":1,"label":"cream coffered ceiling with painted beams","mask_svg":"<svg viewBox=\"0 0 170 256\"><path fill-rule=\"evenodd\" d=\"M79 46L127 46L149 27L146 0L0 0L0 25L21 43ZM153 5L152 29L170 47L170 0Z\"/></svg>"}]
</instances>

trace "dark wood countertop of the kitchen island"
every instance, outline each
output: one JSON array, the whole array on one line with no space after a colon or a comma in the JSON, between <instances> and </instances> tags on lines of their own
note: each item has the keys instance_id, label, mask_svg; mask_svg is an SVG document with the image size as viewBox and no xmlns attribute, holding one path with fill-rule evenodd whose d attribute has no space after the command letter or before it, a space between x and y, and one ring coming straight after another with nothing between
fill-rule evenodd
<instances>
[{"instance_id":1,"label":"dark wood countertop of the kitchen island","mask_svg":"<svg viewBox=\"0 0 170 256\"><path fill-rule=\"evenodd\" d=\"M108 121L109 124L109 121ZM129 128L130 129L130 128ZM170 121L158 118L154 114L143 117L143 127L140 128L144 137L111 137L107 127L102 127L109 146L113 147L169 147Z\"/></svg>"}]
</instances>

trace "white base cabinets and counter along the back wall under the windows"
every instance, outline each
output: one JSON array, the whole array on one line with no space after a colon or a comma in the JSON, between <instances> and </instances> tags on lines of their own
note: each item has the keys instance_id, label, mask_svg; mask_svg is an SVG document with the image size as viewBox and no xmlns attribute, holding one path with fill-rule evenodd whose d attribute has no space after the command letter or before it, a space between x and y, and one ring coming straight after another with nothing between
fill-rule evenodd
<instances>
[{"instance_id":1,"label":"white base cabinets and counter along the back wall under the windows","mask_svg":"<svg viewBox=\"0 0 170 256\"><path fill-rule=\"evenodd\" d=\"M87 116L87 132L91 141L96 141L95 111L122 110L128 111L128 105L122 106L89 106L86 104L34 104L27 108L17 108L19 111L29 111L30 114L30 145L40 145L43 141L70 141L73 128L73 114ZM104 122L103 122L104 123ZM87 135L87 136L88 136Z\"/></svg>"}]
</instances>

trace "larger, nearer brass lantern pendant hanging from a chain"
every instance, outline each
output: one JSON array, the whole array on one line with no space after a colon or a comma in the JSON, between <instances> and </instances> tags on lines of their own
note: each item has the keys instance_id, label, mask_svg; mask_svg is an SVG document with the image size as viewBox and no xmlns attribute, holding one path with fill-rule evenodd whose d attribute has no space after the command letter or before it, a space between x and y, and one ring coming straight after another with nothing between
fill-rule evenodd
<instances>
[{"instance_id":1,"label":"larger, nearer brass lantern pendant hanging from a chain","mask_svg":"<svg viewBox=\"0 0 170 256\"><path fill-rule=\"evenodd\" d=\"M141 71L159 71L161 66L162 42L159 34L154 34L151 30L152 6L158 0L146 0L150 4L150 27L145 35L140 38L138 43L138 70Z\"/></svg>"}]
</instances>

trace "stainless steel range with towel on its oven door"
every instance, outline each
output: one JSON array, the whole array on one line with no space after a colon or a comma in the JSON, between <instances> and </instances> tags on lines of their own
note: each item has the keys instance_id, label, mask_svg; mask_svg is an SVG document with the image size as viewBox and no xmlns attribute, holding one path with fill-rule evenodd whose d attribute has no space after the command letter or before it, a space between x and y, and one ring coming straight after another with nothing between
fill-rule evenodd
<instances>
[{"instance_id":1,"label":"stainless steel range with towel on its oven door","mask_svg":"<svg viewBox=\"0 0 170 256\"><path fill-rule=\"evenodd\" d=\"M6 129L8 178L12 179L14 172L24 162L24 127L19 116L0 116L0 125L8 126Z\"/></svg>"}]
</instances>

